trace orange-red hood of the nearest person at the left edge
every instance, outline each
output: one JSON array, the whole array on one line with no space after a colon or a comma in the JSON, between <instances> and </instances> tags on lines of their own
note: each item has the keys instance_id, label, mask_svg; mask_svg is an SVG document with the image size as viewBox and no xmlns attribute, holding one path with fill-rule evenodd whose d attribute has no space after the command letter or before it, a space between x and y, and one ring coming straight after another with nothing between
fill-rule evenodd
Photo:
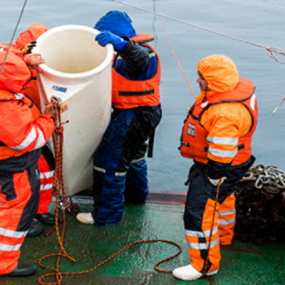
<instances>
[{"instance_id":1,"label":"orange-red hood of the nearest person at the left edge","mask_svg":"<svg viewBox=\"0 0 285 285\"><path fill-rule=\"evenodd\" d=\"M0 70L3 66L6 52L0 52ZM26 63L14 53L9 53L4 68L0 74L0 89L20 92L31 79L31 72Z\"/></svg>"}]
</instances>

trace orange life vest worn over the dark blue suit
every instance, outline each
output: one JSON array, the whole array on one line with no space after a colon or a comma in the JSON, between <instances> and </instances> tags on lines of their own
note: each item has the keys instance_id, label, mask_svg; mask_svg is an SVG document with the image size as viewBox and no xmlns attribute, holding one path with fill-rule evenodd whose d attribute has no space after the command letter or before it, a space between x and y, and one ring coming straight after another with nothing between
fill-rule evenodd
<instances>
[{"instance_id":1,"label":"orange life vest worn over the dark blue suit","mask_svg":"<svg viewBox=\"0 0 285 285\"><path fill-rule=\"evenodd\" d=\"M153 107L160 103L160 58L152 46L146 43L151 35L138 35L131 38L142 46L150 48L157 56L157 73L146 81L135 81L121 76L112 68L112 103L113 107L129 109L142 106ZM153 38L153 36L152 36Z\"/></svg>"}]
</instances>

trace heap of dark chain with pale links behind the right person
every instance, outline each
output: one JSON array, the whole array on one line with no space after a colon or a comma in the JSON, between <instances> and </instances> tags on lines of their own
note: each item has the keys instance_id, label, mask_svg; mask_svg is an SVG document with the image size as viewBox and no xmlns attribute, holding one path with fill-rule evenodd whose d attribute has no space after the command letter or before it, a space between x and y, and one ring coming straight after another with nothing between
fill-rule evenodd
<instances>
[{"instance_id":1,"label":"heap of dark chain with pale links behind the right person","mask_svg":"<svg viewBox=\"0 0 285 285\"><path fill-rule=\"evenodd\" d=\"M285 172L275 166L253 165L235 192L235 237L260 244L285 237Z\"/></svg>"}]
</instances>

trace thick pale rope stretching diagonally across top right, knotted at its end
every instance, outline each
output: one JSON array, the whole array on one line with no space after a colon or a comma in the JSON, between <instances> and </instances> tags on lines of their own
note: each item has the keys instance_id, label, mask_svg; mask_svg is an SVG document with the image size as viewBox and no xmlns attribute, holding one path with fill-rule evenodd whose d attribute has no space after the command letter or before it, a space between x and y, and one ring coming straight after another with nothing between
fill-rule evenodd
<instances>
[{"instance_id":1,"label":"thick pale rope stretching diagonally across top right, knotted at its end","mask_svg":"<svg viewBox=\"0 0 285 285\"><path fill-rule=\"evenodd\" d=\"M125 3L123 1L118 1L118 0L112 0L118 4L122 4L122 5L125 5L125 6L130 6L134 9L138 9L140 11L144 11L144 12L147 12L147 13L150 13L150 14L154 14L154 15L157 15L157 16L161 16L161 17L164 17L166 19L169 19L169 20L172 20L172 21L177 21L178 23L180 24L185 24L187 26L192 26L194 28L199 28L201 30L204 30L204 31L208 31L210 33L215 33L219 36L224 36L224 37L227 37L227 38L232 38L233 40L235 41L241 41L242 43L247 43L249 45L252 45L252 46L257 46L258 48L264 48L266 51L269 52L269 57L271 58L274 58L275 61L277 61L278 63L282 63L282 64L285 64L285 61L279 61L275 56L274 56L274 53L278 53L278 54L281 54L282 56L285 56L285 51L282 50L281 48L275 48L275 47L266 47L266 46L261 46L260 44L258 43L253 43L251 41L246 41L242 38L237 38L236 36L230 36L226 33L221 33L219 31L214 31L212 30L211 28L204 28L203 26L199 26L199 25L196 25L196 24L192 24L192 23L189 23L187 21L182 21L180 19L176 19L176 18L173 18L171 16L166 16L166 15L163 15L163 14L159 14L159 13L156 13L156 12L153 12L153 11L150 11L150 10L147 10L147 9L143 9L139 6L135 6L135 5L132 5L132 4L128 4L128 3Z\"/></svg>"}]
</instances>

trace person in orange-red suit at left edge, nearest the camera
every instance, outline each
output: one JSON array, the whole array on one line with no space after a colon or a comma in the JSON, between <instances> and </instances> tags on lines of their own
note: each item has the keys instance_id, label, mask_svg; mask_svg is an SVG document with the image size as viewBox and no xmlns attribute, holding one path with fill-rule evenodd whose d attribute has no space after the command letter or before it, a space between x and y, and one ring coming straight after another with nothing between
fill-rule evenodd
<instances>
[{"instance_id":1,"label":"person in orange-red suit at left edge, nearest the camera","mask_svg":"<svg viewBox=\"0 0 285 285\"><path fill-rule=\"evenodd\" d=\"M5 56L0 52L0 68ZM54 117L39 113L21 93L30 78L26 63L9 53L0 74L0 275L18 265L38 209L37 161L55 129Z\"/></svg>"}]
</instances>

